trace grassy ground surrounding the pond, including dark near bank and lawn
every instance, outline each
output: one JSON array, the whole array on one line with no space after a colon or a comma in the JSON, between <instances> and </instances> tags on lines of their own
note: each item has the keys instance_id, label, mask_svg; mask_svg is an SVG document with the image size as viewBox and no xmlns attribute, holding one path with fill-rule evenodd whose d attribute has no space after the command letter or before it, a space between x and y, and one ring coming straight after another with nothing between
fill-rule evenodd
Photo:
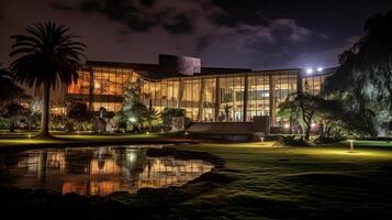
<instances>
[{"instance_id":1,"label":"grassy ground surrounding the pond, including dark near bank and lawn","mask_svg":"<svg viewBox=\"0 0 392 220\"><path fill-rule=\"evenodd\" d=\"M130 219L392 219L391 143L356 142L355 152L349 152L348 143L312 147L272 144L178 145L178 150L208 152L224 161L223 167L180 188L90 199L2 189L1 207L7 204L4 210L96 219L123 215Z\"/></svg>"}]
</instances>

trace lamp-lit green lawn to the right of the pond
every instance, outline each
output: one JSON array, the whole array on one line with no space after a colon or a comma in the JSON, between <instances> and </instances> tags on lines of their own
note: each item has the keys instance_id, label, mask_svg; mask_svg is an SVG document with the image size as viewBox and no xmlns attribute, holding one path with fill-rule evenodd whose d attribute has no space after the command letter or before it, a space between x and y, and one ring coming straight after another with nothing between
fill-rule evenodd
<instances>
[{"instance_id":1,"label":"lamp-lit green lawn to the right of the pond","mask_svg":"<svg viewBox=\"0 0 392 220\"><path fill-rule=\"evenodd\" d=\"M358 146L349 152L346 146L273 148L259 143L179 148L221 156L226 167L215 172L236 180L181 204L171 210L178 216L193 210L201 217L219 215L221 219L392 216L389 148Z\"/></svg>"}]
</instances>

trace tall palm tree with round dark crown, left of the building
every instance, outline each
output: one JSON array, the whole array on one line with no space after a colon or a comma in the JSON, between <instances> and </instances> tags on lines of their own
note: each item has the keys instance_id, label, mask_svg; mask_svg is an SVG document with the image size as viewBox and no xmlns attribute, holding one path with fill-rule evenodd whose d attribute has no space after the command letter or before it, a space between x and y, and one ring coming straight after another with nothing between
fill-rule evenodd
<instances>
[{"instance_id":1,"label":"tall palm tree with round dark crown, left of the building","mask_svg":"<svg viewBox=\"0 0 392 220\"><path fill-rule=\"evenodd\" d=\"M25 35L13 35L11 64L14 79L27 87L44 89L41 136L48 138L49 94L60 82L77 81L77 69L85 57L86 45L77 42L79 36L65 25L35 23L26 29Z\"/></svg>"}]
</instances>

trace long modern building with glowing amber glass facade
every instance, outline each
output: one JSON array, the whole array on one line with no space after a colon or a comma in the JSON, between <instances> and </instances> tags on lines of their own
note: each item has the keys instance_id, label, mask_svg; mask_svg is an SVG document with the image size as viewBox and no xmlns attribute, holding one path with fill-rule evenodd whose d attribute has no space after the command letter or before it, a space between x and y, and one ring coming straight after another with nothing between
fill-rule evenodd
<instances>
[{"instance_id":1,"label":"long modern building with glowing amber glass facade","mask_svg":"<svg viewBox=\"0 0 392 220\"><path fill-rule=\"evenodd\" d=\"M318 94L333 69L203 67L194 57L159 55L158 64L88 61L66 96L86 101L92 111L122 109L124 88L143 81L143 102L158 111L182 108L193 122L250 122L269 116L279 127L278 106L293 92Z\"/></svg>"}]
</instances>

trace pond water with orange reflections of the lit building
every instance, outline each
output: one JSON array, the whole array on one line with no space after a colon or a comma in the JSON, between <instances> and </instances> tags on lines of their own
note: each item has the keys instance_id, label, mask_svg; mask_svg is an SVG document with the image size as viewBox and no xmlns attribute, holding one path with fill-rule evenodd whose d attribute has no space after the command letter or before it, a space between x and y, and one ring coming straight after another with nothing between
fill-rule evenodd
<instances>
[{"instance_id":1,"label":"pond water with orange reflections of the lit building","mask_svg":"<svg viewBox=\"0 0 392 220\"><path fill-rule=\"evenodd\" d=\"M211 170L203 161L148 157L145 148L82 147L0 155L0 183L79 195L180 186Z\"/></svg>"}]
</instances>

